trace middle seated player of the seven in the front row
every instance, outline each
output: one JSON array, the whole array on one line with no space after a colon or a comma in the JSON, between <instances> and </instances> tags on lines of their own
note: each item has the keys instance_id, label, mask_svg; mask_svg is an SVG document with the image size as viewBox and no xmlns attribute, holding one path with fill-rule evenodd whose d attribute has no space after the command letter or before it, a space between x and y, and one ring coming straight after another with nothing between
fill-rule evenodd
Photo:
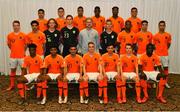
<instances>
[{"instance_id":1,"label":"middle seated player of the seven in the front row","mask_svg":"<svg viewBox=\"0 0 180 112\"><path fill-rule=\"evenodd\" d=\"M84 61L84 92L86 96L88 93L88 80L98 82L99 101L103 103L102 92L103 92L103 74L102 74L102 60L101 55L95 52L95 45L93 42L88 43L88 52L83 56ZM84 103L88 103L88 98L85 98Z\"/></svg>"}]
</instances>

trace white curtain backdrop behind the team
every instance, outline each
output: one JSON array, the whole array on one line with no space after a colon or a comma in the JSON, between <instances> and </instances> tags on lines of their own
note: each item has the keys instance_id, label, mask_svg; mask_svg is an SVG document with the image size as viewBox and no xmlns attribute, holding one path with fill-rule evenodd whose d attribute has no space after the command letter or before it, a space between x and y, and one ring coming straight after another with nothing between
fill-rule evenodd
<instances>
[{"instance_id":1,"label":"white curtain backdrop behind the team","mask_svg":"<svg viewBox=\"0 0 180 112\"><path fill-rule=\"evenodd\" d=\"M167 22L166 30L172 34L170 48L170 71L180 73L180 0L0 0L0 72L8 73L9 49L6 35L12 31L12 21L21 21L22 31L28 33L30 21L37 18L37 10L43 8L46 18L57 17L58 7L64 7L65 14L76 15L78 6L84 7L84 15L92 16L95 6L101 7L101 15L112 15L111 8L119 7L119 15L130 16L130 9L137 7L138 16L149 21L149 30L156 33L160 20Z\"/></svg>"}]
</instances>

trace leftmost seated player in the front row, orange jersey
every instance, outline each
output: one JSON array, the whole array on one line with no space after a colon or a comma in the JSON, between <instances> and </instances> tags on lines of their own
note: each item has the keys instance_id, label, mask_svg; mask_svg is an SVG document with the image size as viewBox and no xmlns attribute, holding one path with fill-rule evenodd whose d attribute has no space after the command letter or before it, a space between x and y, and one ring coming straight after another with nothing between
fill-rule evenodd
<instances>
[{"instance_id":1,"label":"leftmost seated player in the front row, orange jersey","mask_svg":"<svg viewBox=\"0 0 180 112\"><path fill-rule=\"evenodd\" d=\"M19 104L27 104L25 100L25 91L27 90L27 84L32 81L36 81L37 83L37 98L39 99L41 96L41 79L42 76L42 66L43 59L41 56L36 54L37 46L35 44L29 44L29 56L24 58L24 62L22 65L22 75L17 80L17 87L19 89L19 95L21 97L21 101Z\"/></svg>"}]
</instances>

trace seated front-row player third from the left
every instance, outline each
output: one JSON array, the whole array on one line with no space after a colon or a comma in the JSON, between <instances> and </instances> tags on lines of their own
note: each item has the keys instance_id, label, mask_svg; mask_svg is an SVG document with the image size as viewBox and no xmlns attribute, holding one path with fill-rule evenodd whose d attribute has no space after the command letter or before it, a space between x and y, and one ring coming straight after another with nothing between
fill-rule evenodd
<instances>
[{"instance_id":1,"label":"seated front-row player third from the left","mask_svg":"<svg viewBox=\"0 0 180 112\"><path fill-rule=\"evenodd\" d=\"M80 55L76 54L77 52L76 45L72 44L69 47L69 52L70 54L64 58L65 67L64 67L64 81L63 81L63 93L64 93L63 103L67 103L68 81L72 81L72 80L75 80L76 82L79 81L80 103L84 103L83 95L85 89L87 88L87 85L85 85L82 80L83 59Z\"/></svg>"}]
</instances>

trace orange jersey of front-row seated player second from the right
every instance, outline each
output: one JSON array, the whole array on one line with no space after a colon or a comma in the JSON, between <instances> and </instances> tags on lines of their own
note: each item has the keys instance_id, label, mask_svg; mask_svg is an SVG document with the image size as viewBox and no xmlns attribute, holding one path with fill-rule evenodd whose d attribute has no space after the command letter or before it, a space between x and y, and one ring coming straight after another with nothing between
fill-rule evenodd
<instances>
[{"instance_id":1,"label":"orange jersey of front-row seated player second from the right","mask_svg":"<svg viewBox=\"0 0 180 112\"><path fill-rule=\"evenodd\" d=\"M127 55L124 55L120 59L122 72L135 72L136 67L138 67L138 59L135 55L131 55L128 57Z\"/></svg>"}]
</instances>

